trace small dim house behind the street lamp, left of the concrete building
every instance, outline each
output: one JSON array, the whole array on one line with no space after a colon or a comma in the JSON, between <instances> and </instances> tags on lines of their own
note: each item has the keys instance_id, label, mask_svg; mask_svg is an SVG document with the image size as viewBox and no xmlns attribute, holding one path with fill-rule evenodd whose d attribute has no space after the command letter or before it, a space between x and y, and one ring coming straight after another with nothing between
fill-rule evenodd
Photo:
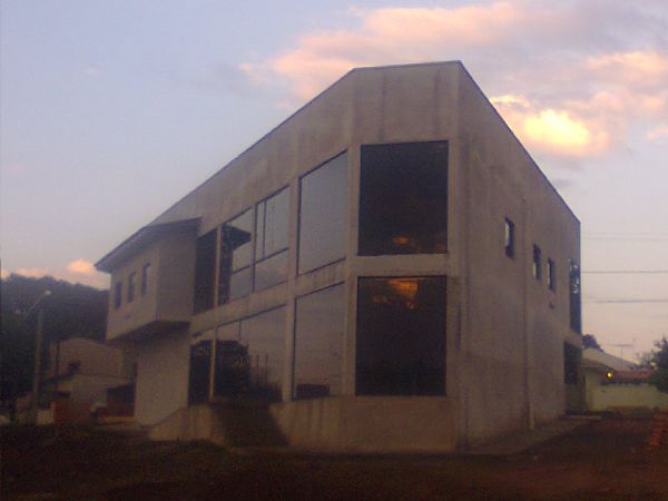
<instances>
[{"instance_id":1,"label":"small dim house behind the street lamp, left of the concrete building","mask_svg":"<svg viewBox=\"0 0 668 501\"><path fill-rule=\"evenodd\" d=\"M132 414L132 364L122 350L73 337L51 344L49 352L38 422L81 423L102 413Z\"/></svg>"}]
</instances>

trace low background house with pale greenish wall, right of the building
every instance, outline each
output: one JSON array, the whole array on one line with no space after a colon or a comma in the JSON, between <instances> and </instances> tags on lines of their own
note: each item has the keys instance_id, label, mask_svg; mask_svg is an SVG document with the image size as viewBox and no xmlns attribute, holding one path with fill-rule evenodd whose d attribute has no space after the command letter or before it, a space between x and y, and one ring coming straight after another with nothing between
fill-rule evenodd
<instances>
[{"instance_id":1,"label":"low background house with pale greenish wall, right of the building","mask_svg":"<svg viewBox=\"0 0 668 501\"><path fill-rule=\"evenodd\" d=\"M668 393L648 382L654 371L601 350L582 351L584 401L588 411L632 412L668 407Z\"/></svg>"}]
</instances>

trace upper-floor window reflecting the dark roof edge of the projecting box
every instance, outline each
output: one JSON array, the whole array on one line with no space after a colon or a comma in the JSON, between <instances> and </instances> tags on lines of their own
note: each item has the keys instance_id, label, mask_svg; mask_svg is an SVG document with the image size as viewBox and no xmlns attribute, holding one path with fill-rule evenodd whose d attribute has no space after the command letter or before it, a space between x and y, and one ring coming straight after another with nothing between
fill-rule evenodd
<instances>
[{"instance_id":1,"label":"upper-floor window reflecting the dark roof edge of the projecting box","mask_svg":"<svg viewBox=\"0 0 668 501\"><path fill-rule=\"evenodd\" d=\"M253 209L220 226L218 304L250 293Z\"/></svg>"}]
</instances>

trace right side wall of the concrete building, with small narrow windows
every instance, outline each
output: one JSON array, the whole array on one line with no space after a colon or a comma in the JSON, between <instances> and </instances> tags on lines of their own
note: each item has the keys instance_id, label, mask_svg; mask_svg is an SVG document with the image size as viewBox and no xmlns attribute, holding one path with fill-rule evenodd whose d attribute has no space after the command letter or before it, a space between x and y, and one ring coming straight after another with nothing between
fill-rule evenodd
<instances>
[{"instance_id":1,"label":"right side wall of the concrete building, with small narrow windows","mask_svg":"<svg viewBox=\"0 0 668 501\"><path fill-rule=\"evenodd\" d=\"M579 222L469 75L460 75L464 338L460 402L475 442L550 421L564 411L563 342L569 328L569 264L579 262ZM515 253L503 226L515 225ZM543 277L532 277L533 244ZM557 263L557 287L546 262ZM577 336L576 336L577 338Z\"/></svg>"}]
</instances>

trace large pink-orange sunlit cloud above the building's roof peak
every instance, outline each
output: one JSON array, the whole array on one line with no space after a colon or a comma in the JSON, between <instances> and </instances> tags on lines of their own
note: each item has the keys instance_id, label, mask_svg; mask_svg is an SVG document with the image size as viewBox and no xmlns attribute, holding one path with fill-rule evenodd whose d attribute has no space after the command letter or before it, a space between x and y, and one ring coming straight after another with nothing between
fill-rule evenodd
<instances>
[{"instance_id":1,"label":"large pink-orange sunlit cloud above the building's roof peak","mask_svg":"<svg viewBox=\"0 0 668 501\"><path fill-rule=\"evenodd\" d=\"M354 67L460 59L522 141L564 157L610 153L632 124L668 115L668 17L655 0L352 9L348 20L239 69L286 85L296 106Z\"/></svg>"}]
</instances>

